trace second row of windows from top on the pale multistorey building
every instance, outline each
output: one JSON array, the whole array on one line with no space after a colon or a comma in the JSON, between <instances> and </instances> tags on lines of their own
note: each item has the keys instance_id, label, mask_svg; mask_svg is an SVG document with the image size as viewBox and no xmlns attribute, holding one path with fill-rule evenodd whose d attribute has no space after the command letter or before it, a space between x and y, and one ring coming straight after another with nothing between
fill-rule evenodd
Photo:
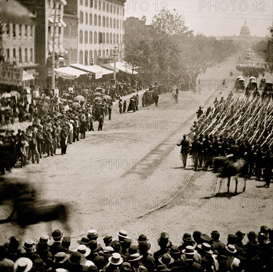
<instances>
[{"instance_id":1,"label":"second row of windows from top on the pale multistorey building","mask_svg":"<svg viewBox=\"0 0 273 272\"><path fill-rule=\"evenodd\" d=\"M85 24L88 25L94 24L94 26L102 26L102 27L110 27L110 28L116 28L116 29L124 29L124 21L123 20L118 20L118 19L112 19L105 16L102 16L102 21L101 21L101 16L100 15L94 15L94 22L93 22L93 15L92 13L89 14L86 12L85 13ZM80 11L80 24L84 23L84 12Z\"/></svg>"}]
</instances>

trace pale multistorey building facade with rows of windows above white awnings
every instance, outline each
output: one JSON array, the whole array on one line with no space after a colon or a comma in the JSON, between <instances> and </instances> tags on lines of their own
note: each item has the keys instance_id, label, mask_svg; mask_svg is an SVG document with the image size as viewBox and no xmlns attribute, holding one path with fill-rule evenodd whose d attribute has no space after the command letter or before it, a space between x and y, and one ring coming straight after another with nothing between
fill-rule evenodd
<instances>
[{"instance_id":1,"label":"pale multistorey building facade with rows of windows above white awnings","mask_svg":"<svg viewBox=\"0 0 273 272\"><path fill-rule=\"evenodd\" d=\"M124 57L124 3L126 0L67 0L65 13L78 15L78 59L94 65L99 57L118 50Z\"/></svg>"}]
</instances>

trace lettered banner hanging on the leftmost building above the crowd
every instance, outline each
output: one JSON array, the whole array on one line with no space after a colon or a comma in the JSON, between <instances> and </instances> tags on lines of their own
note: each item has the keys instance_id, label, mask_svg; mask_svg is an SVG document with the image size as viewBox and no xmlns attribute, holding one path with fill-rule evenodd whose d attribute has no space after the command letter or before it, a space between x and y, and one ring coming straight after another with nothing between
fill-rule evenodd
<instances>
[{"instance_id":1,"label":"lettered banner hanging on the leftmost building above the crowd","mask_svg":"<svg viewBox=\"0 0 273 272\"><path fill-rule=\"evenodd\" d=\"M0 64L0 84L22 86L23 69L10 64Z\"/></svg>"}]
</instances>

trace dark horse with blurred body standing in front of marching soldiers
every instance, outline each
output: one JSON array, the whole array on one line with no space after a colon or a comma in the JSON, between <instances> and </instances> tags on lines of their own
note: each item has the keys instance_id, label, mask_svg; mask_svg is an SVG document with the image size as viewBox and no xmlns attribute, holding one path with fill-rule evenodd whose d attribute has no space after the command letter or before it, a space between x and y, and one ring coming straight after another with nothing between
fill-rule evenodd
<instances>
[{"instance_id":1,"label":"dark horse with blurred body standing in front of marching soldiers","mask_svg":"<svg viewBox=\"0 0 273 272\"><path fill-rule=\"evenodd\" d=\"M231 178L235 178L236 186L234 194L237 194L238 178L244 178L244 187L242 192L246 190L246 177L247 177L247 163L245 160L239 158L235 159L233 155L215 157L213 159L214 172L219 173L219 177L227 178L227 196L229 196L229 186Z\"/></svg>"}]
</instances>

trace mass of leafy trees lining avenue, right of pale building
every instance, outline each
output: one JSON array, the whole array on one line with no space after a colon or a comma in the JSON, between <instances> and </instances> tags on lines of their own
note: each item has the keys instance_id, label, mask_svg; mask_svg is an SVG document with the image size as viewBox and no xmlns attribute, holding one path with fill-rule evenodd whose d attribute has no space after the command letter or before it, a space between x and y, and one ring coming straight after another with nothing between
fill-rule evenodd
<instances>
[{"instance_id":1,"label":"mass of leafy trees lining avenue, right of pale building","mask_svg":"<svg viewBox=\"0 0 273 272\"><path fill-rule=\"evenodd\" d=\"M201 42L206 46L201 47ZM154 16L151 26L127 25L125 61L138 67L143 79L172 80L186 77L190 67L223 61L233 49L228 41L226 44L227 48L219 49L215 37L194 36L183 16L163 10Z\"/></svg>"}]
</instances>

